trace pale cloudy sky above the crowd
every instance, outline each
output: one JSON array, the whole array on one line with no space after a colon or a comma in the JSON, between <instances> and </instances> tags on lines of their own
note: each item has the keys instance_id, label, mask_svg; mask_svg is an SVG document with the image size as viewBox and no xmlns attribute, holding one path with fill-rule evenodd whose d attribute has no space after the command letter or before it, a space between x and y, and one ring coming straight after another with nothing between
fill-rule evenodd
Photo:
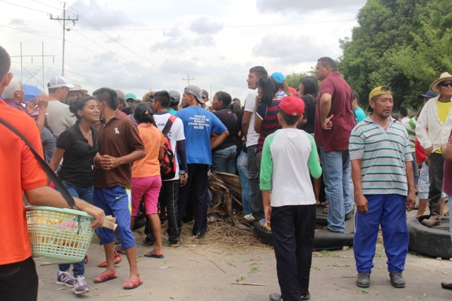
<instances>
[{"instance_id":1,"label":"pale cloudy sky above the crowd","mask_svg":"<svg viewBox=\"0 0 452 301\"><path fill-rule=\"evenodd\" d=\"M311 70L342 55L365 0L68 0L64 77L89 92L133 92L198 85L244 99L252 66L269 73ZM61 75L64 3L0 0L0 45L11 71L42 89ZM22 43L22 63L20 63ZM44 75L42 69L44 45ZM22 66L22 68L21 68ZM187 80L189 79L189 81Z\"/></svg>"}]
</instances>

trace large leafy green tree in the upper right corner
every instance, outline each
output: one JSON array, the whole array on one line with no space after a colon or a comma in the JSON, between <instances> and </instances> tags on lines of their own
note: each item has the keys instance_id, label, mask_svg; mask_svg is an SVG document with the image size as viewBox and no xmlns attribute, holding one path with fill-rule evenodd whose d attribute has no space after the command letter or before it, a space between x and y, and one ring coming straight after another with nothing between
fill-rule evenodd
<instances>
[{"instance_id":1,"label":"large leafy green tree in the upper right corner","mask_svg":"<svg viewBox=\"0 0 452 301\"><path fill-rule=\"evenodd\" d=\"M399 106L418 108L417 95L452 71L452 1L369 0L351 39L340 39L339 68L367 104L378 85L393 89Z\"/></svg>"}]
</instances>

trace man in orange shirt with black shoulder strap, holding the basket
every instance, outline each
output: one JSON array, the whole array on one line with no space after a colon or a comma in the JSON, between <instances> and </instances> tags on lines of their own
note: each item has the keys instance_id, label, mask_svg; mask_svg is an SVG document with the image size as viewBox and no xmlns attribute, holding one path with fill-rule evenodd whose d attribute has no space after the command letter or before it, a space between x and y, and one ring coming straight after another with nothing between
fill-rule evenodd
<instances>
[{"instance_id":1,"label":"man in orange shirt with black shoulder strap, holding the basket","mask_svg":"<svg viewBox=\"0 0 452 301\"><path fill-rule=\"evenodd\" d=\"M13 78L11 60L0 46L0 94ZM0 118L13 125L42 156L40 133L35 121L23 111L9 108L0 99ZM25 142L0 125L0 296L1 300L36 300L37 273L31 258L30 238L23 192L30 204L69 208L61 193L47 186L47 176ZM95 217L92 227L102 225L105 214L81 199L74 208Z\"/></svg>"}]
</instances>

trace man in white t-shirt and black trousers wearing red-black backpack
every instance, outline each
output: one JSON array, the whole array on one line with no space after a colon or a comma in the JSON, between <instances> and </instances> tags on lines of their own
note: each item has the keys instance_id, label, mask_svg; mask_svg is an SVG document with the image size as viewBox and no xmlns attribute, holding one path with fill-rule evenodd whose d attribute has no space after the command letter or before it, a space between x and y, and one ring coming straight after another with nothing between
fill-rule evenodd
<instances>
[{"instance_id":1,"label":"man in white t-shirt and black trousers wearing red-black backpack","mask_svg":"<svg viewBox=\"0 0 452 301\"><path fill-rule=\"evenodd\" d=\"M160 189L159 203L160 206L164 204L167 209L168 228L167 233L169 237L169 247L179 247L184 244L177 228L177 198L179 196L179 184L185 185L188 178L188 168L186 165L186 149L185 149L185 135L184 124L180 118L172 116L168 112L168 107L171 102L171 97L167 91L158 91L154 94L153 108L155 110L154 120L157 128L162 131L169 121L169 117L174 118L171 128L167 136L171 143L173 152L177 151L178 160L176 166L176 176L169 180L162 180L162 188ZM145 239L145 245L150 245L153 242L152 231Z\"/></svg>"}]
</instances>

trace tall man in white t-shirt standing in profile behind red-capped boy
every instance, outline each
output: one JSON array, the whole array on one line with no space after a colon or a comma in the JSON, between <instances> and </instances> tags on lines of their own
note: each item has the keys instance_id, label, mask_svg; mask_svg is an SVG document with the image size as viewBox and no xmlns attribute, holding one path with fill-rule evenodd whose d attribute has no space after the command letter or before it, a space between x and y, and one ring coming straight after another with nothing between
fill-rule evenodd
<instances>
[{"instance_id":1,"label":"tall man in white t-shirt standing in profile behind red-capped boy","mask_svg":"<svg viewBox=\"0 0 452 301\"><path fill-rule=\"evenodd\" d=\"M246 138L246 154L248 155L249 187L251 190L251 214L244 218L248 221L263 219L263 204L261 189L259 188L259 166L256 161L256 145L259 134L254 130L254 118L256 112L257 81L262 76L268 76L266 68L254 66L249 69L248 88L249 92L245 99L245 109L242 118L242 130Z\"/></svg>"}]
</instances>

